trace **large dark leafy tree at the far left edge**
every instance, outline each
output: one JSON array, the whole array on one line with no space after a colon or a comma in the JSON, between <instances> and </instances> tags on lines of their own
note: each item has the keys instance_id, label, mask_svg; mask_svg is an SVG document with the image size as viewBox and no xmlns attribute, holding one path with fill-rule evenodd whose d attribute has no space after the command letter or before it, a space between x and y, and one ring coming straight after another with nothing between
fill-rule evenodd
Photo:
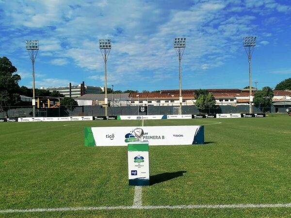
<instances>
[{"instance_id":1,"label":"large dark leafy tree at the far left edge","mask_svg":"<svg viewBox=\"0 0 291 218\"><path fill-rule=\"evenodd\" d=\"M10 106L19 102L19 85L21 79L15 66L8 58L0 58L0 109L5 112L8 117L8 109Z\"/></svg>"}]
</instances>

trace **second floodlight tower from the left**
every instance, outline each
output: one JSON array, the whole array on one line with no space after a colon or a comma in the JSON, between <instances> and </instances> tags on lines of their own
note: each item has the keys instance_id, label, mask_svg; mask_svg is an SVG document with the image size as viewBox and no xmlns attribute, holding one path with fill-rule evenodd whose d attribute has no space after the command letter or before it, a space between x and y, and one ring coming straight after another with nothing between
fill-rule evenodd
<instances>
[{"instance_id":1,"label":"second floodlight tower from the left","mask_svg":"<svg viewBox=\"0 0 291 218\"><path fill-rule=\"evenodd\" d=\"M107 98L107 69L106 63L111 50L111 39L99 39L99 48L105 63L105 116L107 116L108 98Z\"/></svg>"}]
</instances>

